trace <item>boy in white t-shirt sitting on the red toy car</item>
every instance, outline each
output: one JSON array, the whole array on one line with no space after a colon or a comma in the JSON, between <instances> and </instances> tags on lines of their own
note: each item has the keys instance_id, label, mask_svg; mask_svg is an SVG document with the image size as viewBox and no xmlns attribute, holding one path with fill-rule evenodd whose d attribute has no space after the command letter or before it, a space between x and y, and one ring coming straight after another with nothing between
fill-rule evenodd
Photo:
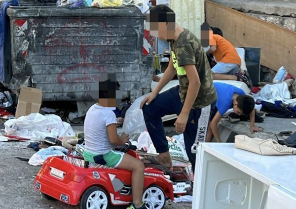
<instances>
[{"instance_id":1,"label":"boy in white t-shirt sitting on the red toy car","mask_svg":"<svg viewBox=\"0 0 296 209\"><path fill-rule=\"evenodd\" d=\"M144 189L144 164L123 152L114 151L118 145L129 141L124 132L117 134L115 110L116 102L122 98L115 74L105 74L100 77L99 85L91 90L93 98L99 98L86 113L84 121L85 161L132 171L133 203L128 209L146 209L142 202ZM94 85L93 85L94 86ZM99 95L95 95L98 94Z\"/></svg>"}]
</instances>

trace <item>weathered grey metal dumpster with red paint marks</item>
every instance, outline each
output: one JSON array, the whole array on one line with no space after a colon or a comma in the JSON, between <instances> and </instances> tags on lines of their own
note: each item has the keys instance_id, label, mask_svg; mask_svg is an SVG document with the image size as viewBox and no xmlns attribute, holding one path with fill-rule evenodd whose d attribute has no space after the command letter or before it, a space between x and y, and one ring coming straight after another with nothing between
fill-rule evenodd
<instances>
[{"instance_id":1,"label":"weathered grey metal dumpster with red paint marks","mask_svg":"<svg viewBox=\"0 0 296 209\"><path fill-rule=\"evenodd\" d=\"M91 100L101 73L116 73L124 98L149 92L152 56L143 56L144 19L134 7L76 10L55 6L9 7L10 86L32 85L43 101Z\"/></svg>"}]
</instances>

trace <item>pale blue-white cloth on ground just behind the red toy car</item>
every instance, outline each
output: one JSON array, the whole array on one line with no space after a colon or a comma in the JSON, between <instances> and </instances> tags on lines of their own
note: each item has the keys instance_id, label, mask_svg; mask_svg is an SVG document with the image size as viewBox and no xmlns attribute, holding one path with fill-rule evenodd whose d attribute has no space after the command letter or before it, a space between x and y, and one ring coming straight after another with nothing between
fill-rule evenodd
<instances>
[{"instance_id":1,"label":"pale blue-white cloth on ground just behind the red toy car","mask_svg":"<svg viewBox=\"0 0 296 209\"><path fill-rule=\"evenodd\" d=\"M48 157L66 156L68 154L69 151L66 148L61 146L52 146L46 149L39 150L29 159L28 164L30 164L31 166L42 166L42 164Z\"/></svg>"}]
</instances>

